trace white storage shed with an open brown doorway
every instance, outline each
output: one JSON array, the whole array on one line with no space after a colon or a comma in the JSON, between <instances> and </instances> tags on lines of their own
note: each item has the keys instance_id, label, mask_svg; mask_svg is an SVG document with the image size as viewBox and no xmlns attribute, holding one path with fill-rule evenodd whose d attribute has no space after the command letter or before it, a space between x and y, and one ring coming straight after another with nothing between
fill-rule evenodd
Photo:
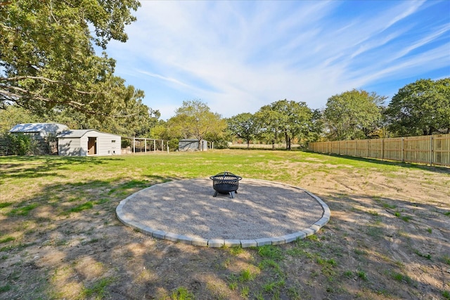
<instances>
[{"instance_id":1,"label":"white storage shed with an open brown doorway","mask_svg":"<svg viewBox=\"0 0 450 300\"><path fill-rule=\"evenodd\" d=\"M58 152L63 156L120 155L120 136L94 129L74 129L58 134Z\"/></svg>"}]
</instances>

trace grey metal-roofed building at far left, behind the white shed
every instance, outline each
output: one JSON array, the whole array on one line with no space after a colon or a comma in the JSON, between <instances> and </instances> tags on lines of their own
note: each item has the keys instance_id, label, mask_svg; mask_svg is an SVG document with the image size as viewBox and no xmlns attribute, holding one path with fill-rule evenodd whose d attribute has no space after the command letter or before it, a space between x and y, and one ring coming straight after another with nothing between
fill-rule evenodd
<instances>
[{"instance_id":1,"label":"grey metal-roofed building at far left, behind the white shed","mask_svg":"<svg viewBox=\"0 0 450 300\"><path fill-rule=\"evenodd\" d=\"M58 123L27 123L17 124L9 132L24 133L37 142L37 155L56 154L56 136L58 133L68 130L69 127Z\"/></svg>"}]
</instances>

